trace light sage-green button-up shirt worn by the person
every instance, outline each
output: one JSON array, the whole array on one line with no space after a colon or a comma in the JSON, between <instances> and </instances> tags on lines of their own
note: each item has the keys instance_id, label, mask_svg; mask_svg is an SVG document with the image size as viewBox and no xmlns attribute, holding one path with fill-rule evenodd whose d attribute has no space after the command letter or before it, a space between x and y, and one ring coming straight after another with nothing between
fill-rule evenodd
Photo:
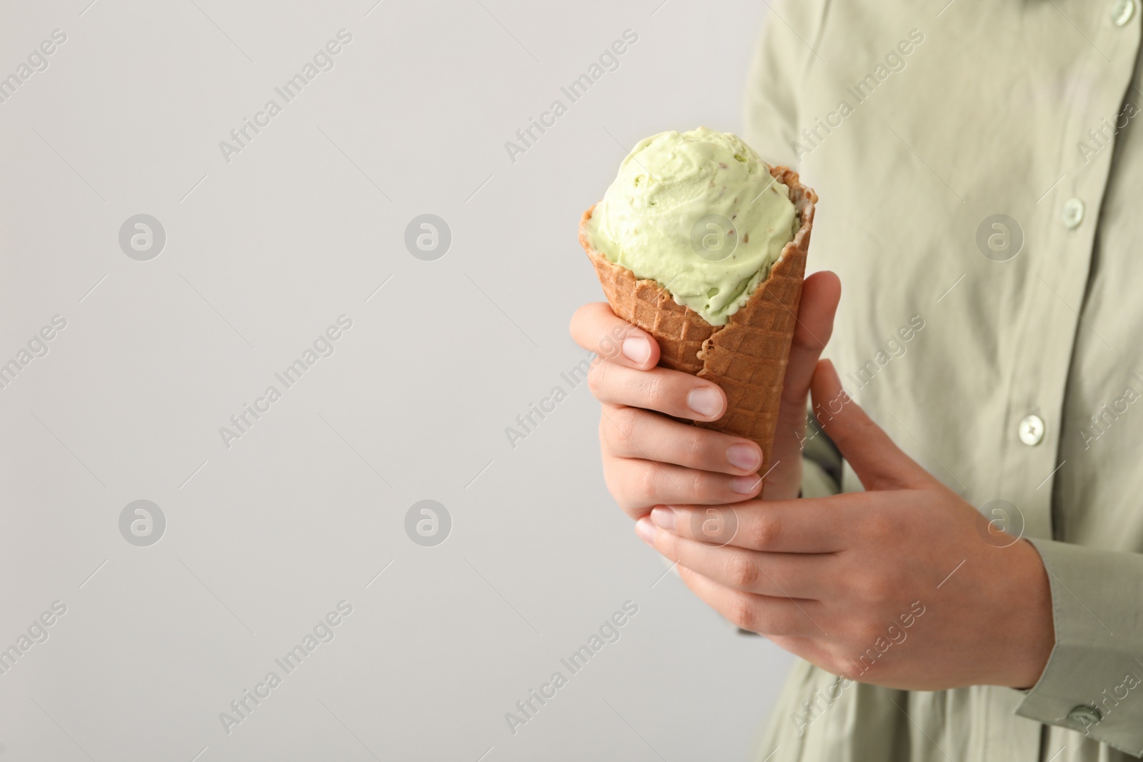
<instances>
[{"instance_id":1,"label":"light sage-green button-up shirt worn by the person","mask_svg":"<svg viewBox=\"0 0 1143 762\"><path fill-rule=\"evenodd\" d=\"M1028 691L831 690L799 661L759 760L1143 754L1143 6L945 1L775 5L743 137L821 196L846 388L1032 539L1056 645ZM861 489L826 446L805 492Z\"/></svg>"}]
</instances>

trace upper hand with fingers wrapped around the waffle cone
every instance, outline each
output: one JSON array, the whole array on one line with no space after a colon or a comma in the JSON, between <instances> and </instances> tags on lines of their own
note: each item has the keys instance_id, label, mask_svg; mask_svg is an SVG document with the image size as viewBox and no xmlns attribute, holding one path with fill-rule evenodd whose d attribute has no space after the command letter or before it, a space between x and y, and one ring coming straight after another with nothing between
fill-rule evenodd
<instances>
[{"instance_id":1,"label":"upper hand with fingers wrapped around the waffle cone","mask_svg":"<svg viewBox=\"0 0 1143 762\"><path fill-rule=\"evenodd\" d=\"M841 283L831 272L806 279L764 499L798 496L809 382L830 340L840 295ZM600 356L588 383L602 403L604 476L628 515L638 519L664 504L721 505L758 497L762 456L754 442L666 417L717 420L726 411L721 388L656 368L655 339L616 318L606 303L580 307L570 329L580 346Z\"/></svg>"}]
</instances>

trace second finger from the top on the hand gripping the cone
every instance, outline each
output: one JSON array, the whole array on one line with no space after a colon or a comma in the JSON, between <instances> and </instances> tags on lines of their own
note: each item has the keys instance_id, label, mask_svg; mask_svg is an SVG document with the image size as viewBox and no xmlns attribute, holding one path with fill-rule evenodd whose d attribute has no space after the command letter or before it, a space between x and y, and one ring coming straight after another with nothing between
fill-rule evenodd
<instances>
[{"instance_id":1,"label":"second finger from the top on the hand gripping the cone","mask_svg":"<svg viewBox=\"0 0 1143 762\"><path fill-rule=\"evenodd\" d=\"M657 410L677 418L718 420L726 410L726 392L681 370L637 370L617 362L597 362L588 374L588 385L600 402Z\"/></svg>"}]
</instances>

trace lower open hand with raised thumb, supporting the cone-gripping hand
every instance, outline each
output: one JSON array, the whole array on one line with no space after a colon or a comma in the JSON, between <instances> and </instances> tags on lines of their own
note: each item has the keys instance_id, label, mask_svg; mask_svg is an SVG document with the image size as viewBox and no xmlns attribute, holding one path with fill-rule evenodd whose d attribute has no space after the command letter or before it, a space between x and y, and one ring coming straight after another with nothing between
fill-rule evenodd
<instances>
[{"instance_id":1,"label":"lower open hand with raised thumb, supporting the cone-gripping hand","mask_svg":"<svg viewBox=\"0 0 1143 762\"><path fill-rule=\"evenodd\" d=\"M1036 547L897 449L825 361L814 402L865 491L658 506L639 536L711 608L826 672L906 690L1033 685L1055 642Z\"/></svg>"}]
</instances>

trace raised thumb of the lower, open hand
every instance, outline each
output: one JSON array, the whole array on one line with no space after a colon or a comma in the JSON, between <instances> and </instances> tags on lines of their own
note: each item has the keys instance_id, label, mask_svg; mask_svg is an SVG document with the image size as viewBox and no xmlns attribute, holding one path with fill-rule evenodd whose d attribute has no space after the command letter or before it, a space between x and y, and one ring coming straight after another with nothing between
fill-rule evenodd
<instances>
[{"instance_id":1,"label":"raised thumb of the lower, open hand","mask_svg":"<svg viewBox=\"0 0 1143 762\"><path fill-rule=\"evenodd\" d=\"M908 489L932 480L853 401L841 387L832 362L817 363L810 388L818 425L838 446L866 490Z\"/></svg>"}]
</instances>

